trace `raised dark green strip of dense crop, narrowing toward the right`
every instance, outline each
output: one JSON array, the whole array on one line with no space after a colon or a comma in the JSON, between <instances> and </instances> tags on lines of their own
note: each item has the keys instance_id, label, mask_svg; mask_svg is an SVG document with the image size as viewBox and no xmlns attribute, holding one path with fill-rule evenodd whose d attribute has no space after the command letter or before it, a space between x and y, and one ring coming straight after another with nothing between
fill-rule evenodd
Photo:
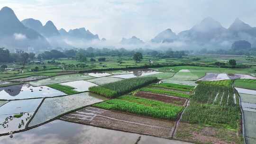
<instances>
[{"instance_id":1,"label":"raised dark green strip of dense crop, narrowing toward the right","mask_svg":"<svg viewBox=\"0 0 256 144\"><path fill-rule=\"evenodd\" d=\"M156 77L138 77L90 87L89 90L107 98L114 98L155 81L157 81Z\"/></svg>"}]
</instances>

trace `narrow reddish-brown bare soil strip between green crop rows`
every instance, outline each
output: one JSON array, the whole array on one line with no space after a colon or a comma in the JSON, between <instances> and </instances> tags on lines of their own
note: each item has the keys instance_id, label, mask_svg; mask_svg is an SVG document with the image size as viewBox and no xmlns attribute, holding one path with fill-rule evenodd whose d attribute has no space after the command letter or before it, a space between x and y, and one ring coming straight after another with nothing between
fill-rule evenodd
<instances>
[{"instance_id":1,"label":"narrow reddish-brown bare soil strip between green crop rows","mask_svg":"<svg viewBox=\"0 0 256 144\"><path fill-rule=\"evenodd\" d=\"M164 96L164 95L150 93L150 92L144 92L144 91L138 91L136 93L136 96L141 97L141 98L146 98L146 99L163 101L166 103L172 103L172 104L180 105L180 106L183 106L184 103L186 102L186 99L175 98L175 97L171 97L171 96Z\"/></svg>"}]
</instances>

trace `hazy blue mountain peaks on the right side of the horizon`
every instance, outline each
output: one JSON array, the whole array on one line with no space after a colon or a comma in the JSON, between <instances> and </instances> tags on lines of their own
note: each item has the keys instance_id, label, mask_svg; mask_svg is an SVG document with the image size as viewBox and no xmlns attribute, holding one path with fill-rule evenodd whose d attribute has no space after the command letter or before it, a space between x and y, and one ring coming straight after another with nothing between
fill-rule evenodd
<instances>
[{"instance_id":1,"label":"hazy blue mountain peaks on the right side of the horizon","mask_svg":"<svg viewBox=\"0 0 256 144\"><path fill-rule=\"evenodd\" d=\"M159 33L151 40L153 43L183 42L186 47L197 48L230 48L232 43L238 40L247 40L256 46L256 27L251 27L237 18L229 28L213 18L205 18L201 23L178 35L171 29Z\"/></svg>"}]
</instances>

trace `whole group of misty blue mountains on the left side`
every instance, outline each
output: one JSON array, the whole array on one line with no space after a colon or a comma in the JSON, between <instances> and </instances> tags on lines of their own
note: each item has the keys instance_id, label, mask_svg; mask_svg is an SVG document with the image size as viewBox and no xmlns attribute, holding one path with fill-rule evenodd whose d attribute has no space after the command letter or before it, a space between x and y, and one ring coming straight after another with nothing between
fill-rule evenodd
<instances>
[{"instance_id":1,"label":"whole group of misty blue mountains on the left side","mask_svg":"<svg viewBox=\"0 0 256 144\"><path fill-rule=\"evenodd\" d=\"M66 41L100 41L98 35L93 35L85 28L71 29L66 32L63 28L58 30L52 21L46 25L33 18L21 22L14 11L8 7L0 10L0 47L9 49L47 49L55 47L73 47ZM106 39L103 38L103 41Z\"/></svg>"}]
</instances>

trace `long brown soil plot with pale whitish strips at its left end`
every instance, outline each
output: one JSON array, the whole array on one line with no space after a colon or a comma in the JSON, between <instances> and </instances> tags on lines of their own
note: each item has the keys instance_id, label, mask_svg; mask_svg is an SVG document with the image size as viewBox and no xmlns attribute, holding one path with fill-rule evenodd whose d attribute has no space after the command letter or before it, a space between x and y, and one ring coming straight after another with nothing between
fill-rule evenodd
<instances>
[{"instance_id":1,"label":"long brown soil plot with pale whitish strips at its left end","mask_svg":"<svg viewBox=\"0 0 256 144\"><path fill-rule=\"evenodd\" d=\"M84 125L160 137L170 137L175 123L94 107L80 109L61 117L61 119Z\"/></svg>"}]
</instances>

